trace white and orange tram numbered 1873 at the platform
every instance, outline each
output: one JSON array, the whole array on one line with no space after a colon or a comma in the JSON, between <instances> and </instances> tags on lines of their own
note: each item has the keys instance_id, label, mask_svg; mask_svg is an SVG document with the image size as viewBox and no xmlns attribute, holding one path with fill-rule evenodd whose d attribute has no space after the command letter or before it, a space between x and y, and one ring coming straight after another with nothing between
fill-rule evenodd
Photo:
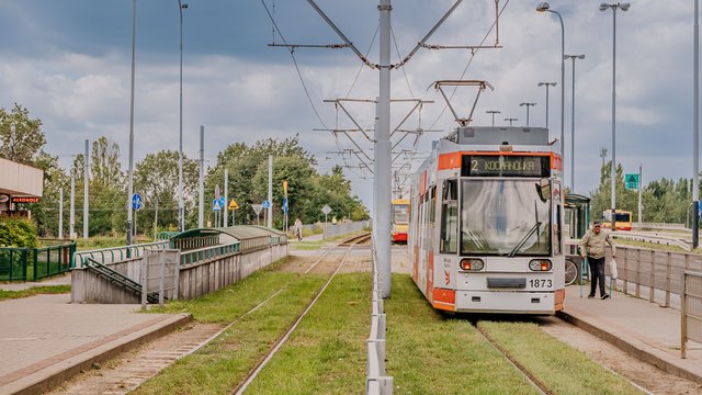
<instances>
[{"instance_id":1,"label":"white and orange tram numbered 1873 at the platform","mask_svg":"<svg viewBox=\"0 0 702 395\"><path fill-rule=\"evenodd\" d=\"M562 158L541 127L460 127L414 174L412 279L441 311L552 315L565 300Z\"/></svg>"}]
</instances>

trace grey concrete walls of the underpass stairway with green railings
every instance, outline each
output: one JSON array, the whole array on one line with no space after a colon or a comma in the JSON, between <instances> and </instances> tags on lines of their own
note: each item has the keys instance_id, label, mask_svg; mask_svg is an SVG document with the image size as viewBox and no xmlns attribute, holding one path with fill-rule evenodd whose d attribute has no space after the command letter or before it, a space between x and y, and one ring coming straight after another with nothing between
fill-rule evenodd
<instances>
[{"instance_id":1,"label":"grey concrete walls of the underpass stairway with green railings","mask_svg":"<svg viewBox=\"0 0 702 395\"><path fill-rule=\"evenodd\" d=\"M178 298L191 300L231 285L287 256L287 245L271 246L249 253L237 253L180 269ZM107 264L139 282L141 258ZM172 296L167 293L167 297ZM140 303L140 298L87 269L71 270L71 303Z\"/></svg>"}]
</instances>

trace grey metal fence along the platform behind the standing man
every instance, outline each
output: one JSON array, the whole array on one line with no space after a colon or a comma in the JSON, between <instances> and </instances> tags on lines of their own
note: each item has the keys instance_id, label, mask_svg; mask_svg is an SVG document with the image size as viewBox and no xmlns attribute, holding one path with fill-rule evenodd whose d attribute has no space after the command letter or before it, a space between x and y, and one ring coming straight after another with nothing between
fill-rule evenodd
<instances>
[{"instance_id":1,"label":"grey metal fence along the platform behind the standing man","mask_svg":"<svg viewBox=\"0 0 702 395\"><path fill-rule=\"evenodd\" d=\"M608 256L611 258L609 250ZM702 255L618 246L616 267L616 285L621 285L625 294L647 297L652 303L661 302L669 307L670 295L682 294L683 271L702 271ZM604 268L610 275L609 264Z\"/></svg>"}]
</instances>

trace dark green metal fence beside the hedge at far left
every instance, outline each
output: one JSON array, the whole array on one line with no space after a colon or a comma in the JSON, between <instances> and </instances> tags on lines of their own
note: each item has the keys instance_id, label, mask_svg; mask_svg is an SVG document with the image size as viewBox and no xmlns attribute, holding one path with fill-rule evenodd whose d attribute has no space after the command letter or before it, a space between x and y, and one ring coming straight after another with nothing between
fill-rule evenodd
<instances>
[{"instance_id":1,"label":"dark green metal fence beside the hedge at far left","mask_svg":"<svg viewBox=\"0 0 702 395\"><path fill-rule=\"evenodd\" d=\"M37 281L70 270L76 241L43 248L0 248L0 281Z\"/></svg>"}]
</instances>

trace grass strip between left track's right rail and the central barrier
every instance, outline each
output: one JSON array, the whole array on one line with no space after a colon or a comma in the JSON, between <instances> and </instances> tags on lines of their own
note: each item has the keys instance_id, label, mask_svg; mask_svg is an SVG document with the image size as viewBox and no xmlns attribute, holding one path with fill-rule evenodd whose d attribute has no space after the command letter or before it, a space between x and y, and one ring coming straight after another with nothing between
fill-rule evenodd
<instances>
[{"instance_id":1,"label":"grass strip between left track's right rail and the central barrier","mask_svg":"<svg viewBox=\"0 0 702 395\"><path fill-rule=\"evenodd\" d=\"M247 393L363 393L371 289L370 273L337 275Z\"/></svg>"}]
</instances>

